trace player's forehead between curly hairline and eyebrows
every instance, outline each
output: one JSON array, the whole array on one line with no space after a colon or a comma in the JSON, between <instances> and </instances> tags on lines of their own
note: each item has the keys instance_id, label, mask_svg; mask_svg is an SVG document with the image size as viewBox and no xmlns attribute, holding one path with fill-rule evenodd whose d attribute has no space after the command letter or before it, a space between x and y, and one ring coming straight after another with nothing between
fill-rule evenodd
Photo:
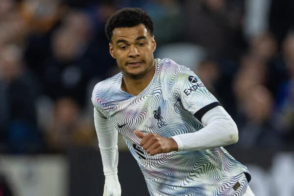
<instances>
[{"instance_id":1,"label":"player's forehead between curly hairline and eyebrows","mask_svg":"<svg viewBox=\"0 0 294 196\"><path fill-rule=\"evenodd\" d=\"M150 33L147 31L147 28L143 24L136 25L133 27L120 27L113 29L112 41L115 42L120 39L132 41L142 35L146 37L150 36Z\"/></svg>"}]
</instances>

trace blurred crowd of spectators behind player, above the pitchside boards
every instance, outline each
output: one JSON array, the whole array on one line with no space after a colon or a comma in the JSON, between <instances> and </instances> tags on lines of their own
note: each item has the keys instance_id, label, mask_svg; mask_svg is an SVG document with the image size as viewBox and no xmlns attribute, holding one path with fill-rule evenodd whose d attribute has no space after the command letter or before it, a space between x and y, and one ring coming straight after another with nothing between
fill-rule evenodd
<instances>
[{"instance_id":1,"label":"blurred crowd of spectators behind player, above the pitchside boards","mask_svg":"<svg viewBox=\"0 0 294 196\"><path fill-rule=\"evenodd\" d=\"M195 71L239 127L232 147L294 149L294 1L0 0L0 152L98 144L94 85L119 70L106 20L141 7L155 57Z\"/></svg>"}]
</instances>

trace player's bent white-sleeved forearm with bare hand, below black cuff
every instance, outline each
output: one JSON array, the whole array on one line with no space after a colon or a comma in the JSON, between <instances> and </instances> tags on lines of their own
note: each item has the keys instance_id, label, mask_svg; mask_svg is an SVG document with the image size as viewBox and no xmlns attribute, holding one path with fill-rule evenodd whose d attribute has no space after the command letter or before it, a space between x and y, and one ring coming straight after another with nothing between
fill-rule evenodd
<instances>
[{"instance_id":1,"label":"player's bent white-sleeved forearm with bare hand, below black cuff","mask_svg":"<svg viewBox=\"0 0 294 196\"><path fill-rule=\"evenodd\" d=\"M164 138L156 133L136 130L142 147L151 155L171 151L201 150L227 146L238 141L238 128L231 116L221 106L207 111L201 118L204 127L194 133Z\"/></svg>"}]
</instances>

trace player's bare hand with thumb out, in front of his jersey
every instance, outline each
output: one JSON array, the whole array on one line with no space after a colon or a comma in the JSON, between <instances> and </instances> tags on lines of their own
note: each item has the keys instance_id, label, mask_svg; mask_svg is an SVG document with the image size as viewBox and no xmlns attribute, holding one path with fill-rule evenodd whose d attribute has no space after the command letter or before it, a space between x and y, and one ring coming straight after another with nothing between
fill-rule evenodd
<instances>
[{"instance_id":1,"label":"player's bare hand with thumb out, in front of his jersey","mask_svg":"<svg viewBox=\"0 0 294 196\"><path fill-rule=\"evenodd\" d=\"M136 136L141 138L141 146L151 155L168 153L178 149L177 143L172 138L165 138L157 133L142 133L135 130Z\"/></svg>"}]
</instances>

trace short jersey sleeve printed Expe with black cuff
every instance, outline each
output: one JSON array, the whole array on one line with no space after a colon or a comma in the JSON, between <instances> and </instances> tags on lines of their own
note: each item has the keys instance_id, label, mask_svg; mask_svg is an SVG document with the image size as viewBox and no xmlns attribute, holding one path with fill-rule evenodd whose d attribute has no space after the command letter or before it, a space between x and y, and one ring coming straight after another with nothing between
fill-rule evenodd
<instances>
[{"instance_id":1,"label":"short jersey sleeve printed Expe with black cuff","mask_svg":"<svg viewBox=\"0 0 294 196\"><path fill-rule=\"evenodd\" d=\"M181 100L184 108L200 122L208 110L221 105L218 99L207 90L200 78L186 67L175 75L172 91L174 96Z\"/></svg>"}]
</instances>

